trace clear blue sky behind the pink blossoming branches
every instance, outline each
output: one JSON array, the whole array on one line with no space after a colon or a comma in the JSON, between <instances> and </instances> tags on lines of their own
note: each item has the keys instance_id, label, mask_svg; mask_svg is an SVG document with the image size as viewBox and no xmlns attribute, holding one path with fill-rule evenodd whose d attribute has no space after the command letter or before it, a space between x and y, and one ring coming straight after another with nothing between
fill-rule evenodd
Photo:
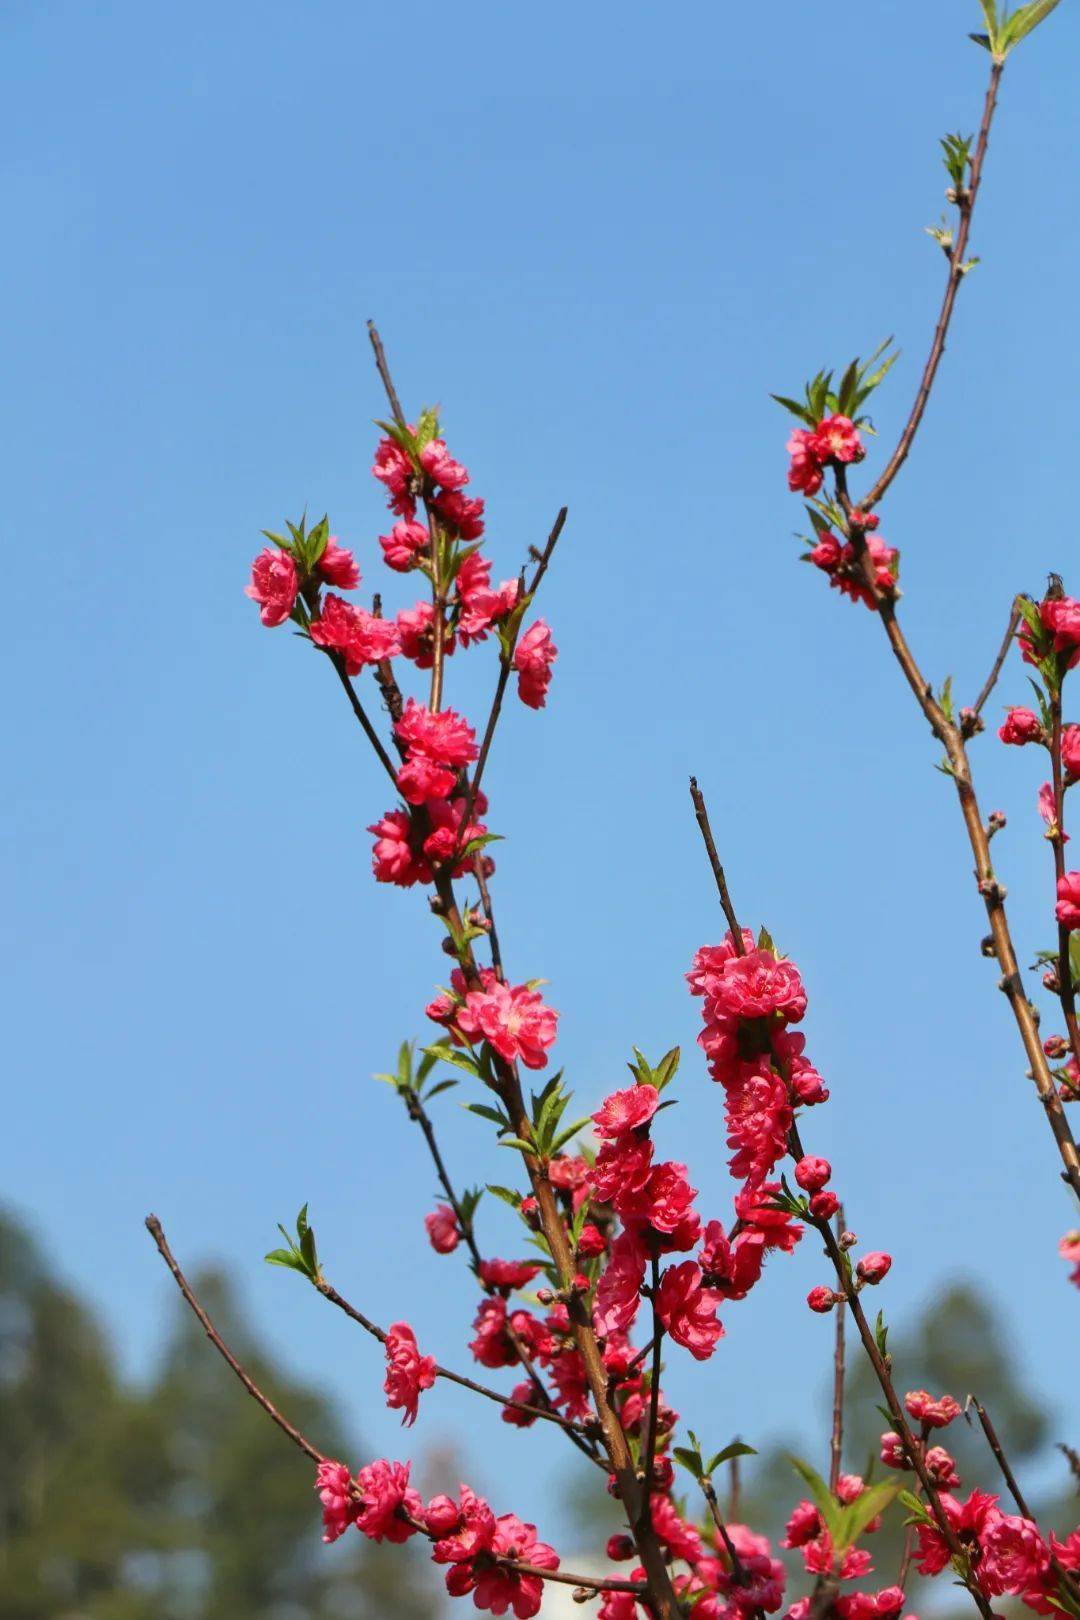
<instances>
[{"instance_id":1,"label":"clear blue sky behind the pink blossoming branches","mask_svg":"<svg viewBox=\"0 0 1080 1620\"><path fill-rule=\"evenodd\" d=\"M2 1181L133 1371L170 1288L154 1209L185 1260L243 1268L261 1328L372 1448L468 1419L479 1479L513 1460L500 1507L541 1523L562 1469L559 1437L444 1390L402 1437L374 1346L261 1265L309 1199L343 1291L468 1361L473 1301L423 1238L423 1144L369 1081L424 1030L436 933L418 894L371 883L387 792L325 666L241 595L259 530L306 504L368 586L413 599L374 546L374 316L406 403L444 405L497 573L570 505L552 703L510 711L487 787L504 948L551 980L581 1100L631 1042L682 1042L664 1149L727 1209L682 982L719 933L693 770L740 910L805 972L834 1095L808 1140L895 1256L881 1302L910 1320L975 1275L1067 1429L1072 1213L978 954L952 792L874 622L795 562L767 399L895 332L894 437L941 293L936 141L981 104L976 21L975 0L3 8ZM968 700L1010 595L1051 565L1080 586L1078 45L1064 5L1006 75L983 264L882 523L915 646ZM455 659L452 700L481 711L492 663ZM1001 698L1025 692L1012 667ZM1030 959L1049 935L1038 763L975 753ZM450 1162L505 1174L455 1095ZM500 1212L481 1230L507 1246ZM717 1442L806 1430L821 1280L810 1243L776 1260L708 1371L675 1369Z\"/></svg>"}]
</instances>

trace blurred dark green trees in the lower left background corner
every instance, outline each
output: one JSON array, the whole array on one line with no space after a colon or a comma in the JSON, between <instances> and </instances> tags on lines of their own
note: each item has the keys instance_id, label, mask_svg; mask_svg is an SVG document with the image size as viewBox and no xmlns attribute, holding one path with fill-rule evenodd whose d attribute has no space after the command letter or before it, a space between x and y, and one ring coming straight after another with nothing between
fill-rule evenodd
<instances>
[{"instance_id":1,"label":"blurred dark green trees in the lower left background corner","mask_svg":"<svg viewBox=\"0 0 1080 1620\"><path fill-rule=\"evenodd\" d=\"M355 1455L324 1396L269 1362L228 1280L196 1288L270 1398ZM89 1307L0 1215L0 1620L431 1620L410 1552L322 1549L311 1468L181 1301L155 1380L125 1387Z\"/></svg>"}]
</instances>

